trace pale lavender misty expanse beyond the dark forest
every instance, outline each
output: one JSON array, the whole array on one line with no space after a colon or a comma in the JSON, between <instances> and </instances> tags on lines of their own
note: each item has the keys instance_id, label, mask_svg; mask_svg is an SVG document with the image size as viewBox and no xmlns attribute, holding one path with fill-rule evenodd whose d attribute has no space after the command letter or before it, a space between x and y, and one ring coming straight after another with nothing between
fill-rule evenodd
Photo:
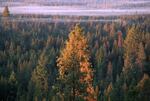
<instances>
[{"instance_id":1,"label":"pale lavender misty expanse beyond the dark forest","mask_svg":"<svg viewBox=\"0 0 150 101\"><path fill-rule=\"evenodd\" d=\"M12 14L150 14L150 0L0 0L0 12L4 6Z\"/></svg>"}]
</instances>

